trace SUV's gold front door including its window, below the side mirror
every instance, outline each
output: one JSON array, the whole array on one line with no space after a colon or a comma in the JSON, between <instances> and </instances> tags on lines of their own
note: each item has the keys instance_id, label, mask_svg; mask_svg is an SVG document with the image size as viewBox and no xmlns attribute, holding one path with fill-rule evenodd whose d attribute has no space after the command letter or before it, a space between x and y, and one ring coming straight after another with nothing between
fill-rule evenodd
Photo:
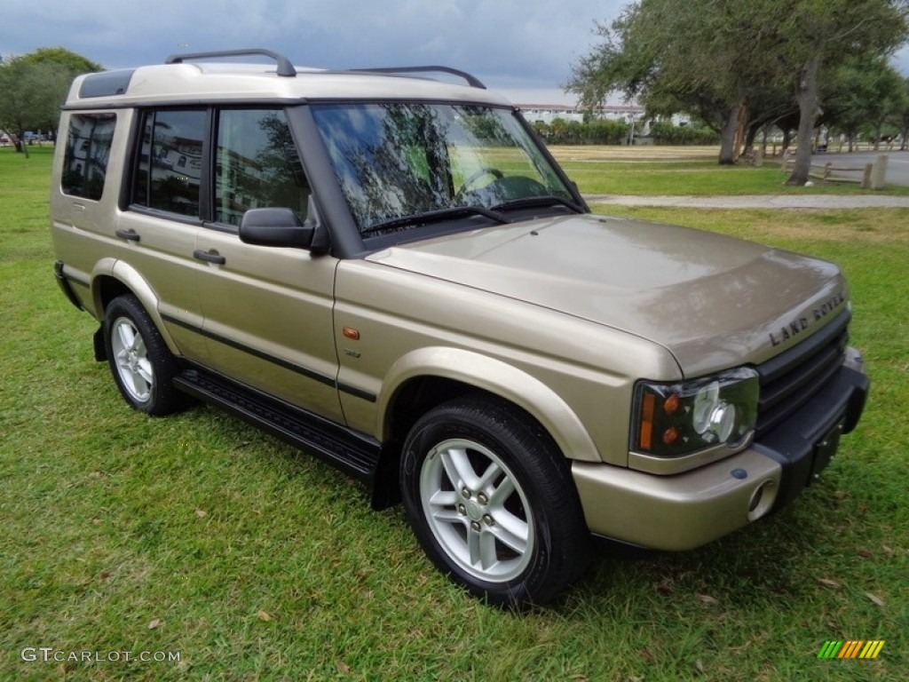
<instances>
[{"instance_id":1,"label":"SUV's gold front door including its window, below the side mirror","mask_svg":"<svg viewBox=\"0 0 909 682\"><path fill-rule=\"evenodd\" d=\"M214 220L199 232L197 294L205 364L247 386L336 421L332 256L250 246L238 226L250 208L289 207L305 219L309 185L280 108L215 112Z\"/></svg>"}]
</instances>

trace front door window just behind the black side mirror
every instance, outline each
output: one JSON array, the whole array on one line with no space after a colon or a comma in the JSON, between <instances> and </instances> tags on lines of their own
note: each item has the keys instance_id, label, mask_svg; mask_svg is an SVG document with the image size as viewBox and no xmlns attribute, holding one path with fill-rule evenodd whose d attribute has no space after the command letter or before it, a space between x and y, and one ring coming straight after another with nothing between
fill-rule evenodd
<instances>
[{"instance_id":1,"label":"front door window just behind the black side mirror","mask_svg":"<svg viewBox=\"0 0 909 682\"><path fill-rule=\"evenodd\" d=\"M215 221L239 225L250 208L285 207L306 217L309 184L281 109L218 113Z\"/></svg>"}]
</instances>

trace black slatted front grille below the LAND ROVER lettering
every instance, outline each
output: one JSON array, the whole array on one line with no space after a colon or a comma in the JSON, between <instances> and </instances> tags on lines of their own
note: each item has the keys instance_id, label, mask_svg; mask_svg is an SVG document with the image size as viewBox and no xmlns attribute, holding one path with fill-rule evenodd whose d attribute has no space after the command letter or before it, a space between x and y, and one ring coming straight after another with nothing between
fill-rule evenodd
<instances>
[{"instance_id":1,"label":"black slatted front grille below the LAND ROVER lettering","mask_svg":"<svg viewBox=\"0 0 909 682\"><path fill-rule=\"evenodd\" d=\"M761 381L758 437L804 406L843 365L849 318L845 310L814 336L757 366Z\"/></svg>"}]
</instances>

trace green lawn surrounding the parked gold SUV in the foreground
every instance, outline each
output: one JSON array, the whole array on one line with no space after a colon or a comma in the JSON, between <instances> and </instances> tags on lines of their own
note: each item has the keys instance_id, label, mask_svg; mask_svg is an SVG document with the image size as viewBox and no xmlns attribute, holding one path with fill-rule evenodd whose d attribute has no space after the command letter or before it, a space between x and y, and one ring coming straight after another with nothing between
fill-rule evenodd
<instances>
[{"instance_id":1,"label":"green lawn surrounding the parked gold SUV in the foreground","mask_svg":"<svg viewBox=\"0 0 909 682\"><path fill-rule=\"evenodd\" d=\"M0 150L0 678L904 678L906 211L610 209L839 262L873 394L779 517L693 552L603 557L553 607L514 615L450 586L399 508L370 511L314 458L215 409L129 410L55 285L50 156L33 152ZM886 645L816 658L852 638ZM180 660L27 662L24 647Z\"/></svg>"}]
</instances>

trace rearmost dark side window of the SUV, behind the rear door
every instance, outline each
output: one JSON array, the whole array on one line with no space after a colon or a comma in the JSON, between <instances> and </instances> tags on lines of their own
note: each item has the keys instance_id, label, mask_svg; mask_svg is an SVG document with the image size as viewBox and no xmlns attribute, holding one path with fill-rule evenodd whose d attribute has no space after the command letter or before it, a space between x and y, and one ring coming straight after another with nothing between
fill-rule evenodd
<instances>
[{"instance_id":1,"label":"rearmost dark side window of the SUV, behind the rear door","mask_svg":"<svg viewBox=\"0 0 909 682\"><path fill-rule=\"evenodd\" d=\"M65 194L101 198L115 125L115 114L70 115L60 183Z\"/></svg>"}]
</instances>

